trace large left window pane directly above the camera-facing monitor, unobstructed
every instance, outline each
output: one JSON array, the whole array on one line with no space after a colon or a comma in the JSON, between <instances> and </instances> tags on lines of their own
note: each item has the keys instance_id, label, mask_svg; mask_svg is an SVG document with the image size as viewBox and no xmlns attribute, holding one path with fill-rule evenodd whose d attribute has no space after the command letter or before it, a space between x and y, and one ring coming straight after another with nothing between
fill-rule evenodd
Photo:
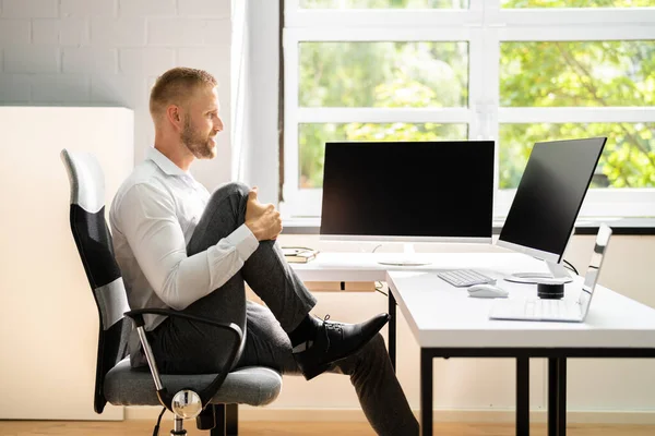
<instances>
[{"instance_id":1,"label":"large left window pane directly above the camera-facing monitor, unobstructed","mask_svg":"<svg viewBox=\"0 0 655 436\"><path fill-rule=\"evenodd\" d=\"M467 43L300 43L303 107L465 107Z\"/></svg>"}]
</instances>

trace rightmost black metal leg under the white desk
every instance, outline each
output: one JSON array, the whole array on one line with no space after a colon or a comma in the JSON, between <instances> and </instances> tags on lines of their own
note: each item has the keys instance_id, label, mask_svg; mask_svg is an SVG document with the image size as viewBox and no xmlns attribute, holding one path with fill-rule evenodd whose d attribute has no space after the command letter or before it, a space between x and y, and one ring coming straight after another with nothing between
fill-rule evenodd
<instances>
[{"instance_id":1,"label":"rightmost black metal leg under the white desk","mask_svg":"<svg viewBox=\"0 0 655 436\"><path fill-rule=\"evenodd\" d=\"M548 359L548 436L567 435L567 359Z\"/></svg>"}]
</instances>

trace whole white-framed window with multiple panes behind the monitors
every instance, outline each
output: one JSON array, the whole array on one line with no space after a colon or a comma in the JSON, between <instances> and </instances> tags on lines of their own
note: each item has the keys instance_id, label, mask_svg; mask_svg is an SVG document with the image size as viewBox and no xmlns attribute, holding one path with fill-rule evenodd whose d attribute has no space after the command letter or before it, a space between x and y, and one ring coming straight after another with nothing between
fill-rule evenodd
<instances>
[{"instance_id":1,"label":"whole white-framed window with multiple panes behind the monitors","mask_svg":"<svg viewBox=\"0 0 655 436\"><path fill-rule=\"evenodd\" d=\"M496 140L501 217L535 142L585 136L581 215L655 215L653 0L285 3L285 215L320 215L326 141Z\"/></svg>"}]
</instances>

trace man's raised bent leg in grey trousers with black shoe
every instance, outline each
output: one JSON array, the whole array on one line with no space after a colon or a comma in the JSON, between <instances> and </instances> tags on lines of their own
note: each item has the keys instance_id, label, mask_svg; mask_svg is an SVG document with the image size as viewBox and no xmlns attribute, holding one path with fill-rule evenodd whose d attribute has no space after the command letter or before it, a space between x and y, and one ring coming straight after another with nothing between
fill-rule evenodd
<instances>
[{"instance_id":1,"label":"man's raised bent leg in grey trousers with black shoe","mask_svg":"<svg viewBox=\"0 0 655 436\"><path fill-rule=\"evenodd\" d=\"M216 244L245 222L248 192L248 186L242 183L229 183L212 194L189 241L189 255ZM262 298L293 344L297 346L294 358L308 379L327 370L331 362L359 350L389 319L386 314L381 314L361 324L344 326L311 317L309 311L315 299L284 259L275 241L261 241L239 274L184 312L237 323L245 329L243 279ZM191 334L198 336L198 332ZM219 337L225 338L226 335L219 334Z\"/></svg>"}]
</instances>

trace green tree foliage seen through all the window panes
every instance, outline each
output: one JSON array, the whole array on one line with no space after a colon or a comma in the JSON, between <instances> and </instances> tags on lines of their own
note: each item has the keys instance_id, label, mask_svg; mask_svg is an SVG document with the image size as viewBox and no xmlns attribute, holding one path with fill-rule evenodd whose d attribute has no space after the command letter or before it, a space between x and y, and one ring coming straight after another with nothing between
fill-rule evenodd
<instances>
[{"instance_id":1,"label":"green tree foliage seen through all the window panes","mask_svg":"<svg viewBox=\"0 0 655 436\"><path fill-rule=\"evenodd\" d=\"M650 7L654 0L503 0L504 8ZM307 8L467 8L465 0L302 0ZM503 43L502 107L655 106L655 40ZM466 43L301 43L299 106L468 105ZM438 121L438 120L436 120ZM313 123L299 126L299 185L322 185L327 141L466 140L466 125ZM535 142L608 136L595 186L655 186L655 123L504 124L500 187L515 187Z\"/></svg>"}]
</instances>

